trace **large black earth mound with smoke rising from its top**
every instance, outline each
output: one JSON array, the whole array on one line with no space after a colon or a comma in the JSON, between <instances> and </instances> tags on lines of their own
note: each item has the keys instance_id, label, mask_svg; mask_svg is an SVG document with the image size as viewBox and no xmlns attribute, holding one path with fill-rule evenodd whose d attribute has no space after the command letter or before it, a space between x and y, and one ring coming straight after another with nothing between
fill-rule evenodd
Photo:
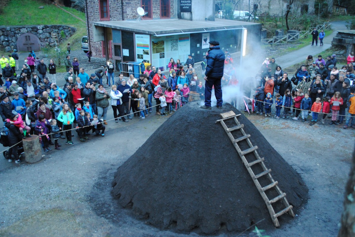
<instances>
[{"instance_id":1,"label":"large black earth mound with smoke rising from its top","mask_svg":"<svg viewBox=\"0 0 355 237\"><path fill-rule=\"evenodd\" d=\"M223 226L228 231L244 231L264 218L258 227L273 227L266 204L239 154L222 125L215 123L220 113L240 112L229 104L223 109L206 110L198 103L187 103L174 113L118 168L114 197L122 207L132 208L134 215L162 229L188 232L199 228L210 234ZM272 169L294 213L299 213L308 197L300 175L244 115L238 120ZM234 120L226 124L235 126ZM242 136L238 133L232 132L235 138ZM280 142L286 145L289 141ZM249 148L246 142L238 144L242 150ZM262 169L254 165L253 171L259 174ZM266 178L258 180L261 186L270 184ZM269 199L278 196L272 192L267 193ZM280 203L274 205L275 212L285 208ZM278 218L281 226L290 219L288 214Z\"/></svg>"}]
</instances>

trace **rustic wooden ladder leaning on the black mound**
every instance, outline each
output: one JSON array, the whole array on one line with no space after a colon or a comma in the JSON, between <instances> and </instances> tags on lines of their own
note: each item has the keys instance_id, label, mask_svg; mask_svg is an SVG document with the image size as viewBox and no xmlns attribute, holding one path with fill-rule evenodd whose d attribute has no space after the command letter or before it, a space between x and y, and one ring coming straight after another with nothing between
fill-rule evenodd
<instances>
[{"instance_id":1,"label":"rustic wooden ladder leaning on the black mound","mask_svg":"<svg viewBox=\"0 0 355 237\"><path fill-rule=\"evenodd\" d=\"M276 227L279 227L279 221L278 221L278 216L283 215L285 213L290 214L292 217L295 216L295 214L293 213L292 210L292 205L289 204L289 202L286 199L286 193L282 192L278 186L278 181L275 181L273 179L273 177L271 176L271 169L268 169L265 165L264 158L261 158L257 152L258 147L257 146L253 146L251 141L250 141L250 134L246 134L244 131L244 124L240 124L237 117L240 116L240 114L235 114L233 111L229 111L226 113L222 113L220 114L222 116L222 119L219 119L216 121L216 123L220 123L222 124L225 132L227 133L229 139L231 140L231 142L233 143L235 149L237 150L237 152L239 153L240 158L242 159L242 162L245 165L245 168L248 170L252 180L254 181L255 186L257 187L261 197L264 199L265 203L266 203L266 207L269 210L269 213L271 215L271 219L274 222L274 225ZM234 119L235 123L237 124L234 127L228 128L227 125L224 123L224 120L228 120L228 119ZM239 137L237 139L235 139L233 137L233 135L231 134L231 131L234 130L240 130L242 133L242 137ZM250 146L250 148L242 151L240 149L240 147L238 146L238 142L246 140L246 142L248 143L248 145ZM249 154L249 153L254 153L256 160L254 160L253 162L247 162L245 155ZM255 175L253 170L251 169L251 167L253 165L260 165L263 169L263 172L260 174ZM265 186L265 187L261 187L258 178L262 177L266 175L266 177L268 178L268 180L271 182L271 184ZM274 197L272 199L269 199L265 193L266 190L269 190L271 188L274 188L274 190L278 193L277 197ZM272 203L275 203L277 201L281 200L281 202L283 203L283 205L285 206L285 208L281 211L279 211L278 213L275 213L274 208L272 207Z\"/></svg>"}]
</instances>

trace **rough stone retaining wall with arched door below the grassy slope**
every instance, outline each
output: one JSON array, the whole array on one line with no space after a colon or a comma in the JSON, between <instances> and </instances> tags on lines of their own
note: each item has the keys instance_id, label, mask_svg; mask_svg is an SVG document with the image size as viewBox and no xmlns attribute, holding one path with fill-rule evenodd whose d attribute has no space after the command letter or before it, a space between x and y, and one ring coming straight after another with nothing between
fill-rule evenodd
<instances>
[{"instance_id":1,"label":"rough stone retaining wall with arched door below the grassy slope","mask_svg":"<svg viewBox=\"0 0 355 237\"><path fill-rule=\"evenodd\" d=\"M64 32L65 37L61 36ZM57 42L61 43L76 32L76 28L64 25L42 25L42 26L0 26L0 49L9 52L17 49L17 39L24 33L32 33L39 38L41 47L55 46L52 33L56 33Z\"/></svg>"}]
</instances>

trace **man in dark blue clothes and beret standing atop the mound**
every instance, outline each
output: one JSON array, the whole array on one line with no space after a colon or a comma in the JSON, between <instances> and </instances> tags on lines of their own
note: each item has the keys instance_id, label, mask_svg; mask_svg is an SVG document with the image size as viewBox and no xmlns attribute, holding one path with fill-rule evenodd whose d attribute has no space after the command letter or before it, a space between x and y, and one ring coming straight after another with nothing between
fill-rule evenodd
<instances>
[{"instance_id":1,"label":"man in dark blue clothes and beret standing atop the mound","mask_svg":"<svg viewBox=\"0 0 355 237\"><path fill-rule=\"evenodd\" d=\"M214 95L217 99L217 108L222 109L222 85L224 69L224 52L219 47L218 41L209 42L209 51L206 53L207 66L204 80L204 105L203 109L211 109L212 86L214 86Z\"/></svg>"}]
</instances>

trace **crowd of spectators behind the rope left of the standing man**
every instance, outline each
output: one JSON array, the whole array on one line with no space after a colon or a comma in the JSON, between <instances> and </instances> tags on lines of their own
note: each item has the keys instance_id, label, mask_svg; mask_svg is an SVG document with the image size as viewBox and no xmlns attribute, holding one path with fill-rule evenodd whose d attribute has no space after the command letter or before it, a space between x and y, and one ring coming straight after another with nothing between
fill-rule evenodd
<instances>
[{"instance_id":1,"label":"crowd of spectators behind the rope left of the standing man","mask_svg":"<svg viewBox=\"0 0 355 237\"><path fill-rule=\"evenodd\" d=\"M67 50L70 53L70 45ZM7 136L11 138L9 162L21 162L17 154L18 145L33 134L39 136L44 152L51 151L50 145L59 150L59 138L66 139L67 145L75 145L72 130L77 132L82 142L91 134L105 136L109 106L113 109L116 123L120 120L129 122L133 117L145 119L152 113L153 98L155 114L163 117L187 103L190 91L197 91L201 97L204 94L204 86L197 79L191 55L186 60L187 70L180 60L175 62L171 58L169 77L156 67L147 66L139 78L131 74L124 79L120 74L116 80L111 61L88 75L76 57L71 60L67 55L64 60L67 73L62 87L57 85L53 59L46 65L32 51L24 59L20 75L16 75L16 70L20 70L16 68L16 50L10 56L9 62L0 60L3 72L0 74L0 115L8 129ZM12 63L13 56L17 60L15 64ZM104 88L104 75L106 86L111 90ZM5 89L2 85L6 86Z\"/></svg>"}]
</instances>

